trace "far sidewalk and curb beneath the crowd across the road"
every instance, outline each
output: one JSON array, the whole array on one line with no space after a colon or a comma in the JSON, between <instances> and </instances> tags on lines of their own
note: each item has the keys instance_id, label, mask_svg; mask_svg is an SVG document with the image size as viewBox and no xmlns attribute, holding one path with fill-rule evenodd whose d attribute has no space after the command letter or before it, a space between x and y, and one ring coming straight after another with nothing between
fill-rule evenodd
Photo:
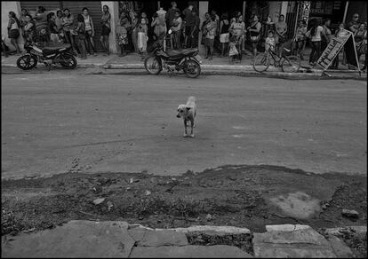
<instances>
[{"instance_id":1,"label":"far sidewalk and curb beneath the crowd across the road","mask_svg":"<svg viewBox=\"0 0 368 259\"><path fill-rule=\"evenodd\" d=\"M7 58L2 56L2 67L16 67L16 60L20 56L11 55ZM267 76L295 79L366 79L366 73L358 74L357 71L348 70L347 66L340 65L339 70L328 70L329 76L321 76L323 70L316 66L310 67L308 64L308 53L305 53L304 59L301 62L300 71L298 73L284 73L281 67L269 67L265 73L258 73L253 70L252 59L249 54L243 55L243 60L237 64L230 64L228 57L220 58L218 54L213 55L212 60L202 57L202 73L204 75L252 75L252 76ZM103 69L103 74L130 74L146 75L143 61L136 53L130 53L125 57L118 57L116 54L103 56L101 53L98 56L88 56L87 59L76 58L80 68L99 67ZM124 71L107 71L108 69L123 69ZM101 72L100 72L101 73ZM163 73L164 74L164 73Z\"/></svg>"}]
</instances>

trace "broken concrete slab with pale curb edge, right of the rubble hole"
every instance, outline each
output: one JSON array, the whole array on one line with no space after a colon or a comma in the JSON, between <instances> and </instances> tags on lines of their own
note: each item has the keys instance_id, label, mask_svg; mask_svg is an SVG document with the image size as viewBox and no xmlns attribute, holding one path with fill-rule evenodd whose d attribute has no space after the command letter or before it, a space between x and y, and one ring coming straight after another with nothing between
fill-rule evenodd
<instances>
[{"instance_id":1,"label":"broken concrete slab with pale curb edge, right of the rubble hole","mask_svg":"<svg viewBox=\"0 0 368 259\"><path fill-rule=\"evenodd\" d=\"M330 242L305 226L296 231L254 233L253 237L255 257L336 257Z\"/></svg>"}]
</instances>

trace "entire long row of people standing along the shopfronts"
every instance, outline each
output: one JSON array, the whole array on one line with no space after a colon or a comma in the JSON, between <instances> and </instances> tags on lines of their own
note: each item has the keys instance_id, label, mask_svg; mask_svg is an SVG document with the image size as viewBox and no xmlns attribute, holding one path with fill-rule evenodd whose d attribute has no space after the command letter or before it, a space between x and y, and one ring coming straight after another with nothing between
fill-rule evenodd
<instances>
[{"instance_id":1,"label":"entire long row of people standing along the shopfronts","mask_svg":"<svg viewBox=\"0 0 368 259\"><path fill-rule=\"evenodd\" d=\"M188 4L188 7L182 12L175 2L171 4L172 7L167 12L163 8L155 12L151 21L148 20L146 12L134 12L124 6L116 27L119 56L123 57L129 50L133 50L143 59L147 52L149 36L154 41L160 41L164 49L166 47L171 49L195 48L200 33L202 34L201 43L204 44L205 49L205 59L212 59L214 48L220 51L220 57L230 56L234 59L242 59L246 42L251 45L252 59L257 55L264 27L258 15L253 15L250 22L247 23L248 26L245 26L241 12L236 12L231 19L228 19L228 13L222 13L219 17L215 11L207 12L200 27L200 19L193 4ZM102 9L100 43L104 55L108 55L111 15L107 5L104 5ZM322 25L319 20L311 20L308 31L305 20L300 20L296 34L292 39L288 39L288 27L284 21L284 15L281 14L274 27L268 31L265 47L268 49L271 45L278 54L281 54L280 51L283 50L284 44L291 43L294 54L303 59L303 50L306 42L309 41L311 47L309 64L315 66L316 60L319 59L332 37L339 35L341 29L346 27L354 34L356 51L360 58L361 55L367 53L367 27L366 22L360 23L358 20L359 15L356 13L347 26L341 23L334 34L332 34L329 19L324 20ZM268 28L266 25L266 29ZM167 36L169 30L172 33ZM19 20L14 12L9 12L8 36L17 53L20 53L17 41L20 33L26 44L34 42L70 43L75 54L79 54L82 59L86 59L87 53L96 55L92 38L95 35L94 23L87 7L84 7L76 16L72 15L68 8L58 10L56 14L53 12L46 14L44 7L39 6L34 17L27 10L22 9ZM335 59L332 64L333 68L338 66L339 58Z\"/></svg>"}]
</instances>

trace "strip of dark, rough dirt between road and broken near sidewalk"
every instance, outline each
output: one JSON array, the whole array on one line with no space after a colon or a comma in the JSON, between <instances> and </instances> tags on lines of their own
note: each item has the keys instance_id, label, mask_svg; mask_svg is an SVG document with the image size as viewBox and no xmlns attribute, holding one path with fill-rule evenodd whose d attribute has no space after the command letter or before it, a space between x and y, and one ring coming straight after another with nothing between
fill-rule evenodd
<instances>
[{"instance_id":1,"label":"strip of dark, rough dirt between road and broken near sidewalk","mask_svg":"<svg viewBox=\"0 0 368 259\"><path fill-rule=\"evenodd\" d=\"M152 228L233 225L264 232L266 224L337 227L366 224L366 177L315 175L273 166L223 166L180 177L146 173L68 173L2 182L4 234L53 228L69 220L124 220ZM291 192L324 209L296 218L269 200ZM101 199L100 204L93 200ZM355 209L357 219L341 215Z\"/></svg>"}]
</instances>

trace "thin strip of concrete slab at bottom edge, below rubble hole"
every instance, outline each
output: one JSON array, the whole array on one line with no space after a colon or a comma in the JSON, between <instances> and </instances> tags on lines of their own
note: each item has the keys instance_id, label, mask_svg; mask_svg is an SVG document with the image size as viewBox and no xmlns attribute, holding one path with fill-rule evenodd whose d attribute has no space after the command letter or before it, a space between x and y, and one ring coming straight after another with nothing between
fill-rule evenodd
<instances>
[{"instance_id":1,"label":"thin strip of concrete slab at bottom edge, below rubble hole","mask_svg":"<svg viewBox=\"0 0 368 259\"><path fill-rule=\"evenodd\" d=\"M252 258L238 247L185 246L185 247L133 247L131 258Z\"/></svg>"}]
</instances>

